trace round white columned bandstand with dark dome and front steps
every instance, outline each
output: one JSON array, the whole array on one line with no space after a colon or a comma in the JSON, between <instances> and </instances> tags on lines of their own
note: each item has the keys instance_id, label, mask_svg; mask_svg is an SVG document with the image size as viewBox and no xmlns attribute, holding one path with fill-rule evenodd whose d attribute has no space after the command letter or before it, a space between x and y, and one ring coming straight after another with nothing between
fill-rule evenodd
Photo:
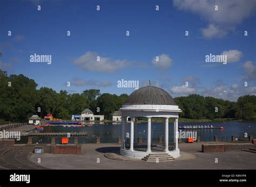
<instances>
[{"instance_id":1,"label":"round white columned bandstand with dark dome and front steps","mask_svg":"<svg viewBox=\"0 0 256 187\"><path fill-rule=\"evenodd\" d=\"M162 152L174 158L179 157L180 151L176 132L178 132L178 118L181 110L169 93L151 85L140 88L131 93L119 111L122 111L121 155L142 159L149 154ZM131 118L130 123L127 123L127 117ZM138 117L147 118L146 139L138 137ZM158 141L152 141L152 118L164 118L164 138L159 137ZM170 119L173 120L173 140L169 140ZM129 136L126 134L128 125L130 125Z\"/></svg>"}]
</instances>

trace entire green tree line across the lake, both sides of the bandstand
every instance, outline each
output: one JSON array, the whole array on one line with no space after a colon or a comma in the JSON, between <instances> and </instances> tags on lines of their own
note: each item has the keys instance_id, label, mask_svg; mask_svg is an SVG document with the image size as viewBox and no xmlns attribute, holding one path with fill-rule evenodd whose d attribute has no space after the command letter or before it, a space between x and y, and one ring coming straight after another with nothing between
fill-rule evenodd
<instances>
[{"instance_id":1,"label":"entire green tree line across the lake, both sides of the bandstand","mask_svg":"<svg viewBox=\"0 0 256 187\"><path fill-rule=\"evenodd\" d=\"M103 114L107 119L110 113L125 103L127 94L119 96L100 93L98 89L84 90L82 93L59 93L42 87L24 75L10 75L0 69L0 120L27 121L32 114L44 117L51 112L54 118L71 119L72 114L80 114L89 108L95 114ZM237 102L190 95L174 98L180 109L180 117L189 119L238 118L256 119L256 96L241 96Z\"/></svg>"}]
</instances>

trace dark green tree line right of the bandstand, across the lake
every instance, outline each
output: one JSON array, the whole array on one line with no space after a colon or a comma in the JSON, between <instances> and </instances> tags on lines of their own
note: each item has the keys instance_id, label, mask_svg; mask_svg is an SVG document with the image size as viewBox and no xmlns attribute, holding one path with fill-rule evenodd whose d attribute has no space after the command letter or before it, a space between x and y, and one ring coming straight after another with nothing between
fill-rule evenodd
<instances>
[{"instance_id":1,"label":"dark green tree line right of the bandstand, across the lake","mask_svg":"<svg viewBox=\"0 0 256 187\"><path fill-rule=\"evenodd\" d=\"M237 102L203 97L192 94L187 97L174 98L182 110L180 117L188 119L237 118L244 120L256 119L256 96L245 95Z\"/></svg>"}]
</instances>

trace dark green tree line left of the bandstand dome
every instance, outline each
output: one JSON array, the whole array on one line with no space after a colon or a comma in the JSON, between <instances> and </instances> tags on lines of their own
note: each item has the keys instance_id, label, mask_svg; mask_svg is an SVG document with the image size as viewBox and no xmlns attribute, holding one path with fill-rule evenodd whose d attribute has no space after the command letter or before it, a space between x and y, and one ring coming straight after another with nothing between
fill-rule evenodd
<instances>
[{"instance_id":1,"label":"dark green tree line left of the bandstand dome","mask_svg":"<svg viewBox=\"0 0 256 187\"><path fill-rule=\"evenodd\" d=\"M83 93L57 93L51 88L36 89L37 83L24 75L7 75L0 69L0 119L27 121L33 114L44 117L48 112L53 118L71 119L72 114L81 114L88 108L95 114L106 117L118 110L128 97L90 89Z\"/></svg>"}]
</instances>

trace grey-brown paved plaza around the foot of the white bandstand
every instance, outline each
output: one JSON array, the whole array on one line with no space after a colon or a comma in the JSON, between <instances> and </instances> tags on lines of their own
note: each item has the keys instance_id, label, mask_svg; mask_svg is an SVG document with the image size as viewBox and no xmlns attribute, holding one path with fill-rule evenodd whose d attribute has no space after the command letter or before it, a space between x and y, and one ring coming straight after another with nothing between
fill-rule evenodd
<instances>
[{"instance_id":1,"label":"grey-brown paved plaza around the foot of the white bandstand","mask_svg":"<svg viewBox=\"0 0 256 187\"><path fill-rule=\"evenodd\" d=\"M205 143L205 142L204 142ZM201 143L180 143L180 157L171 162L145 162L119 155L117 144L84 144L82 155L32 154L30 160L49 169L256 169L255 153L201 152ZM218 159L218 163L215 163Z\"/></svg>"}]
</instances>

